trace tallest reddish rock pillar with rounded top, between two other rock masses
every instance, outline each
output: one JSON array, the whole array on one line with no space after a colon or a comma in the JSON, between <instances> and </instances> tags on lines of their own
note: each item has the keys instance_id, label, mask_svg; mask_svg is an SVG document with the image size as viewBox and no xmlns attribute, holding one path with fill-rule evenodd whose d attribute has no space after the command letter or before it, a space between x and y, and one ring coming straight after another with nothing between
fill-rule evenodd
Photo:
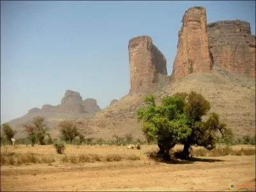
<instances>
[{"instance_id":1,"label":"tallest reddish rock pillar with rounded top, between two other rock masses","mask_svg":"<svg viewBox=\"0 0 256 192\"><path fill-rule=\"evenodd\" d=\"M205 8L189 8L182 18L170 80L180 79L192 73L211 72L211 68Z\"/></svg>"}]
</instances>

